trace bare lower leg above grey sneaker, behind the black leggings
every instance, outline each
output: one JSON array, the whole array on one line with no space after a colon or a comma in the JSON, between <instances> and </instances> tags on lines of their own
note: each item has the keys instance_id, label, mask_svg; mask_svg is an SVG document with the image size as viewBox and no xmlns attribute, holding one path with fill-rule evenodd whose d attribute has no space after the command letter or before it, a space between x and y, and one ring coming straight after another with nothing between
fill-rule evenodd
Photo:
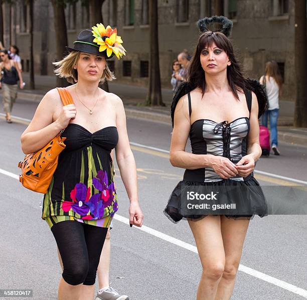
<instances>
[{"instance_id":1,"label":"bare lower leg above grey sneaker, behind the black leggings","mask_svg":"<svg viewBox=\"0 0 307 300\"><path fill-rule=\"evenodd\" d=\"M110 228L104 240L103 248L100 255L99 265L97 269L99 289L109 286L109 269L111 256Z\"/></svg>"}]
</instances>

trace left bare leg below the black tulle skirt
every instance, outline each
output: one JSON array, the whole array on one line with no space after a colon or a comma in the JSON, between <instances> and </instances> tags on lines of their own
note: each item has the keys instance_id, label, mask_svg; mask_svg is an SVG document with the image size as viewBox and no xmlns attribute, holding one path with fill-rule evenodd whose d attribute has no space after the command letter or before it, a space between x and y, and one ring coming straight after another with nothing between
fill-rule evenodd
<instances>
[{"instance_id":1,"label":"left bare leg below the black tulle skirt","mask_svg":"<svg viewBox=\"0 0 307 300\"><path fill-rule=\"evenodd\" d=\"M220 216L189 221L189 225L203 266L197 300L214 300L225 266Z\"/></svg>"}]
</instances>

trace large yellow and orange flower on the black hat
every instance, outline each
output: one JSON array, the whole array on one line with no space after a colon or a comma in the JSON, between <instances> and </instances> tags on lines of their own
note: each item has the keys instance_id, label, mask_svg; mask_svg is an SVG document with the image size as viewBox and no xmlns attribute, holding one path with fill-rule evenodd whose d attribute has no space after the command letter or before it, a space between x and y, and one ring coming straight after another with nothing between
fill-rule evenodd
<instances>
[{"instance_id":1,"label":"large yellow and orange flower on the black hat","mask_svg":"<svg viewBox=\"0 0 307 300\"><path fill-rule=\"evenodd\" d=\"M93 42L99 45L99 52L106 50L107 57L111 57L112 53L114 53L118 59L122 55L126 55L126 50L121 46L122 40L117 35L116 28L112 29L109 25L105 28L100 23L92 27L92 33L93 37L95 37Z\"/></svg>"}]
</instances>

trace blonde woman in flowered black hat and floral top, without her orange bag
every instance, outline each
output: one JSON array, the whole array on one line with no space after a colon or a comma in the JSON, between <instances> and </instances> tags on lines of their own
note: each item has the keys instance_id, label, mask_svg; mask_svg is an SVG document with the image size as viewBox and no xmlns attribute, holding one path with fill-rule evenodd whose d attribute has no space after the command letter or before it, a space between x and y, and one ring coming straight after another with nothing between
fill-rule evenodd
<instances>
[{"instance_id":1,"label":"blonde woman in flowered black hat and floral top, without her orange bag","mask_svg":"<svg viewBox=\"0 0 307 300\"><path fill-rule=\"evenodd\" d=\"M118 210L113 148L130 200L130 226L142 225L124 107L117 95L98 87L114 79L106 60L125 54L121 43L116 29L102 24L80 32L73 48L67 47L69 54L54 63L58 76L76 82L67 87L74 104L63 106L57 89L50 90L21 137L26 154L41 149L61 130L66 137L42 212L63 261L59 300L94 297L101 250Z\"/></svg>"}]
</instances>

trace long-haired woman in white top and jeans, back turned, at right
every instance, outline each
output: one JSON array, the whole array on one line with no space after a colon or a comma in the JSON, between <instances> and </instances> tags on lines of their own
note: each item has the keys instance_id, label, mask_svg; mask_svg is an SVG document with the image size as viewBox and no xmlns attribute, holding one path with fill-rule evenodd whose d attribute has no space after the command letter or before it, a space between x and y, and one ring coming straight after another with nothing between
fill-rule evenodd
<instances>
[{"instance_id":1,"label":"long-haired woman in white top and jeans, back turned, at right","mask_svg":"<svg viewBox=\"0 0 307 300\"><path fill-rule=\"evenodd\" d=\"M260 83L265 85L268 99L268 110L261 117L262 125L267 127L267 118L270 119L271 147L274 155L280 155L277 148L277 119L279 114L279 96L282 87L282 78L276 61L272 60L265 64L265 75L261 76Z\"/></svg>"}]
</instances>

